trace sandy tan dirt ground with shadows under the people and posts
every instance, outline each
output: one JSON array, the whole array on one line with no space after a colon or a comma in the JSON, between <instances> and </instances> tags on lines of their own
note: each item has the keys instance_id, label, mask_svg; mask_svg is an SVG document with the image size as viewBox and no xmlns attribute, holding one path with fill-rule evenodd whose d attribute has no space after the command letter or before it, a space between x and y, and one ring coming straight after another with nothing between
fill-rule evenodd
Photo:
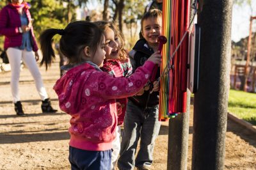
<instances>
[{"instance_id":1,"label":"sandy tan dirt ground with shadows under the people and posts","mask_svg":"<svg viewBox=\"0 0 256 170\"><path fill-rule=\"evenodd\" d=\"M10 72L0 73L0 169L70 169L67 114L60 111L52 86L60 72L58 63L40 68L56 114L42 114L40 98L26 68L20 74L20 97L25 117L15 116ZM190 127L193 127L191 105ZM191 169L192 130L189 132L188 169ZM256 169L256 134L228 120L224 169ZM154 150L152 169L166 169L168 121L163 122Z\"/></svg>"}]
</instances>

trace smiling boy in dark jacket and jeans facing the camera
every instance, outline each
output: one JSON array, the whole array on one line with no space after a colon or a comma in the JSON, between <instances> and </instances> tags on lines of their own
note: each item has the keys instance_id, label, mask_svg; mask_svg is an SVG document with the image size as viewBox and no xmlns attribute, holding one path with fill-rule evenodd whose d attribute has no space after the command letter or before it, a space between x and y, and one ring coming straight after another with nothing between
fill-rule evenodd
<instances>
[{"instance_id":1,"label":"smiling boy in dark jacket and jeans facing the camera","mask_svg":"<svg viewBox=\"0 0 256 170\"><path fill-rule=\"evenodd\" d=\"M132 70L136 70L158 49L158 36L161 35L162 12L149 10L141 19L141 35L129 53ZM129 98L124 119L124 134L122 134L119 169L149 169L153 162L153 150L161 122L158 121L159 78L157 68L156 79L148 82L141 91ZM138 141L141 138L140 150L135 158Z\"/></svg>"}]
</instances>

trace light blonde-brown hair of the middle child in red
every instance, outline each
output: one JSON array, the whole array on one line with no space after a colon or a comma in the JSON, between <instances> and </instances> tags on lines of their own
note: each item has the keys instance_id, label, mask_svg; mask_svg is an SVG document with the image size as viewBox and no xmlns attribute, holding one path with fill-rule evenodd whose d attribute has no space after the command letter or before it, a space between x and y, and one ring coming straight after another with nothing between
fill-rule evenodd
<instances>
[{"instance_id":1,"label":"light blonde-brown hair of the middle child in red","mask_svg":"<svg viewBox=\"0 0 256 170\"><path fill-rule=\"evenodd\" d=\"M118 29L115 22L110 22L110 21L106 21L106 20L98 20L93 23L96 24L103 31L106 31L107 28L110 28L114 31L115 35L118 36L118 39L120 41L120 49L119 49L120 54L119 54L118 58L120 59L120 61L126 61L128 56L127 56L127 51L124 49L124 47L125 47L124 35Z\"/></svg>"}]
</instances>

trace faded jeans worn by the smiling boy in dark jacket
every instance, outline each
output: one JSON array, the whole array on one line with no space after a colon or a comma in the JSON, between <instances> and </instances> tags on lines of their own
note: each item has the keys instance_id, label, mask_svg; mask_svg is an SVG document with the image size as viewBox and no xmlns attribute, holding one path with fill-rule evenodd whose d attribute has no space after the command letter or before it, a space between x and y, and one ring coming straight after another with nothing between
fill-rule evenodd
<instances>
[{"instance_id":1,"label":"faded jeans worn by the smiling boy in dark jacket","mask_svg":"<svg viewBox=\"0 0 256 170\"><path fill-rule=\"evenodd\" d=\"M122 134L118 168L123 170L133 169L134 166L150 167L153 162L153 150L160 127L158 105L148 107L143 112L143 108L129 101L124 118L124 133ZM135 158L139 139L141 139L140 150Z\"/></svg>"}]
</instances>

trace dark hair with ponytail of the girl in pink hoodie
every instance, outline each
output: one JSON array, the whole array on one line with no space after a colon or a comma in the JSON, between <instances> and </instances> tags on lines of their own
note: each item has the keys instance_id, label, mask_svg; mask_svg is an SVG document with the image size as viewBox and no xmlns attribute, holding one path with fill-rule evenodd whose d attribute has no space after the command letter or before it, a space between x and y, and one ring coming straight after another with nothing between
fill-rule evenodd
<instances>
[{"instance_id":1,"label":"dark hair with ponytail of the girl in pink hoodie","mask_svg":"<svg viewBox=\"0 0 256 170\"><path fill-rule=\"evenodd\" d=\"M46 29L40 35L40 45L43 54L40 65L44 65L46 70L51 66L52 59L55 58L52 49L52 37L61 35L60 50L68 58L69 63L79 63L83 61L84 47L90 47L93 55L102 39L103 31L92 22L78 20L70 22L65 29Z\"/></svg>"}]
</instances>

